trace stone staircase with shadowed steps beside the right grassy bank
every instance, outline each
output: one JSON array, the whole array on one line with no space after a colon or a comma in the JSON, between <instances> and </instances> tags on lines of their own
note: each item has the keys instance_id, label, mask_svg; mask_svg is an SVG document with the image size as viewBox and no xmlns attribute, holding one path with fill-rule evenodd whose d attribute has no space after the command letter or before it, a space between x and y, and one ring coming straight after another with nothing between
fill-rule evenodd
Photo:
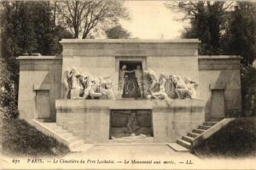
<instances>
[{"instance_id":1,"label":"stone staircase with shadowed steps beside the right grassy bank","mask_svg":"<svg viewBox=\"0 0 256 170\"><path fill-rule=\"evenodd\" d=\"M195 148L195 146L203 143L210 138L212 134L217 133L221 128L225 127L234 120L235 118L224 118L219 122L204 122L203 125L193 129L192 132L187 133L187 135L183 136L182 139L177 139L177 144L192 150Z\"/></svg>"}]
</instances>

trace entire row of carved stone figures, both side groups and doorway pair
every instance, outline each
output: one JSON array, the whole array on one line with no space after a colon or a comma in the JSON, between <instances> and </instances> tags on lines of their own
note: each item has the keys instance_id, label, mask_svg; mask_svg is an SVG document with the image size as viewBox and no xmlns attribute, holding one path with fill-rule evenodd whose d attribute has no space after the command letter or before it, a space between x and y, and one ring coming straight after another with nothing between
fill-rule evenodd
<instances>
[{"instance_id":1,"label":"entire row of carved stone figures, both side groups and doorway pair","mask_svg":"<svg viewBox=\"0 0 256 170\"><path fill-rule=\"evenodd\" d=\"M120 96L125 86L125 73L134 72L138 92L146 99L197 99L198 83L189 77L166 76L152 70L142 71L140 65L133 71L126 71L123 65L119 71ZM113 84L109 77L93 77L81 74L76 68L64 71L62 77L64 99L115 99Z\"/></svg>"}]
</instances>

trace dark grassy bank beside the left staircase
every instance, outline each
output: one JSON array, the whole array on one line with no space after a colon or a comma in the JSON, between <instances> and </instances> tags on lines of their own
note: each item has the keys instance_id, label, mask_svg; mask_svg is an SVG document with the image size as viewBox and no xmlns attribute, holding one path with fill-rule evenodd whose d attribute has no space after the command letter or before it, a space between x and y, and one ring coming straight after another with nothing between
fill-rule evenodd
<instances>
[{"instance_id":1,"label":"dark grassy bank beside the left staircase","mask_svg":"<svg viewBox=\"0 0 256 170\"><path fill-rule=\"evenodd\" d=\"M63 156L69 151L65 144L20 119L3 119L1 133L5 155Z\"/></svg>"}]
</instances>

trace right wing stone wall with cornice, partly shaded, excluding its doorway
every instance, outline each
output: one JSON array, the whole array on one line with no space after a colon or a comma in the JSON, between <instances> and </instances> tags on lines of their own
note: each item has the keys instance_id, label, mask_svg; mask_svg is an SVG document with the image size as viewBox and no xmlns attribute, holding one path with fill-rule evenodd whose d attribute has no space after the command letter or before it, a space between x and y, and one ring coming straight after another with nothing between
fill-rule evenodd
<instances>
[{"instance_id":1,"label":"right wing stone wall with cornice, partly shaded, excluding its doorway","mask_svg":"<svg viewBox=\"0 0 256 170\"><path fill-rule=\"evenodd\" d=\"M241 76L238 56L199 56L199 90L206 101L206 119L211 117L212 90L224 90L225 116L241 112Z\"/></svg>"}]
</instances>

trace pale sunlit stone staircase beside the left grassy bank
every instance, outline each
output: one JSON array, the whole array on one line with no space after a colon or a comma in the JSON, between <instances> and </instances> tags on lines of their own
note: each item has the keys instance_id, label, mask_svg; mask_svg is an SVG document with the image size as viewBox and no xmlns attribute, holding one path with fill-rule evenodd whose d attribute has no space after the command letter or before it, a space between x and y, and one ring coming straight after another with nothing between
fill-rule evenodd
<instances>
[{"instance_id":1,"label":"pale sunlit stone staircase beside the left grassy bank","mask_svg":"<svg viewBox=\"0 0 256 170\"><path fill-rule=\"evenodd\" d=\"M82 151L84 148L84 140L74 136L73 133L68 132L66 129L58 126L56 122L38 122L33 120L33 125L43 133L54 137L62 144L66 144L70 151Z\"/></svg>"}]
</instances>

